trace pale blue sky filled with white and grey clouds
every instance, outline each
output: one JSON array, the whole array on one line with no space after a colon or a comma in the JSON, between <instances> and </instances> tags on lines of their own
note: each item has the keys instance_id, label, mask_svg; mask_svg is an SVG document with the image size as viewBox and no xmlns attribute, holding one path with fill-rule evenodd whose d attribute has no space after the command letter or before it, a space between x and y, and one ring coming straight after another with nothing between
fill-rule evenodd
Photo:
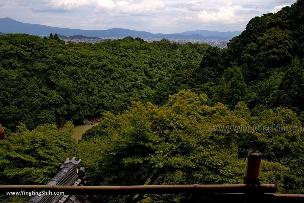
<instances>
[{"instance_id":1,"label":"pale blue sky filled with white and grey clouds","mask_svg":"<svg viewBox=\"0 0 304 203\"><path fill-rule=\"evenodd\" d=\"M0 18L74 29L151 33L243 31L248 21L295 0L0 0Z\"/></svg>"}]
</instances>

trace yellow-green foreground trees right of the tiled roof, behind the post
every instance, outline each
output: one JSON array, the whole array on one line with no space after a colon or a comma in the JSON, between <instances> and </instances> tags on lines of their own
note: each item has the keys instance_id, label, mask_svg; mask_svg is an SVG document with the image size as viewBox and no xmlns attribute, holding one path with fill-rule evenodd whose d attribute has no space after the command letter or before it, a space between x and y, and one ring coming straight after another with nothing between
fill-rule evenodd
<instances>
[{"instance_id":1,"label":"yellow-green foreground trees right of the tiled roof, behind the post","mask_svg":"<svg viewBox=\"0 0 304 203\"><path fill-rule=\"evenodd\" d=\"M252 117L244 102L234 111L221 103L206 105L206 95L181 90L157 107L133 102L119 115L105 113L78 153L93 185L140 184L241 184L249 150L263 153L262 183L273 183L278 191L293 191L286 181L300 185L302 132L215 132L214 125L299 125L290 110L275 109ZM94 151L97 150L97 153ZM98 154L98 156L96 156ZM92 168L92 167L97 167ZM94 170L94 172L93 172ZM290 182L288 182L289 184ZM302 189L301 189L302 190ZM121 201L154 202L194 198L192 195L125 196ZM110 198L111 199L111 198ZM117 201L112 199L111 201Z\"/></svg>"}]
</instances>

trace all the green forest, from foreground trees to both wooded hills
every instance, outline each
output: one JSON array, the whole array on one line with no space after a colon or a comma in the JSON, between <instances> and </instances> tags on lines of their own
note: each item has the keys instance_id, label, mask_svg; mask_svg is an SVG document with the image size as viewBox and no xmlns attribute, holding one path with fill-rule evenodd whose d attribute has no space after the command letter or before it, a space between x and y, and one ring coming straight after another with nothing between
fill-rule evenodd
<instances>
[{"instance_id":1,"label":"all the green forest, from foreground trees to both wooded hills","mask_svg":"<svg viewBox=\"0 0 304 203\"><path fill-rule=\"evenodd\" d=\"M0 36L0 123L6 130L0 184L45 184L72 156L83 160L90 185L241 184L247 153L258 150L261 183L304 194L303 131L209 130L302 126L303 36L303 0L254 17L226 49L132 37L65 44L57 37ZM72 122L100 115L102 122L78 143L71 138Z\"/></svg>"}]
</instances>

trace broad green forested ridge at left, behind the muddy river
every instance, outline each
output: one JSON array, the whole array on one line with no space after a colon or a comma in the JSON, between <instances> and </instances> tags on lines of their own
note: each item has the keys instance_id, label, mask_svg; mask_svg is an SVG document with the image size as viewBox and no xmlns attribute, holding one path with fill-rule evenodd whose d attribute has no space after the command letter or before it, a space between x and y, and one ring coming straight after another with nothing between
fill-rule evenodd
<instances>
[{"instance_id":1,"label":"broad green forested ridge at left, behind the muddy river","mask_svg":"<svg viewBox=\"0 0 304 203\"><path fill-rule=\"evenodd\" d=\"M62 44L56 34L53 39L0 37L3 126L15 129L23 122L34 129L70 119L81 122L104 111L122 112L131 101L152 101L164 80L170 88L157 94L165 102L169 94L191 87L192 68L198 67L208 47L132 37L96 44Z\"/></svg>"}]
</instances>

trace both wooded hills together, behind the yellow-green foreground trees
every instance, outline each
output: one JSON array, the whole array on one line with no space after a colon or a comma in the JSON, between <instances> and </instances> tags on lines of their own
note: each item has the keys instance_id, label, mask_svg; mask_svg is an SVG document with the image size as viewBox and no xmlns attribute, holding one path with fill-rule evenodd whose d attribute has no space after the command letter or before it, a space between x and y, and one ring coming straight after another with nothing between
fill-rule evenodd
<instances>
[{"instance_id":1,"label":"both wooded hills together, behind the yellow-green foreground trees","mask_svg":"<svg viewBox=\"0 0 304 203\"><path fill-rule=\"evenodd\" d=\"M206 93L209 104L230 109L245 101L254 115L287 107L303 121L304 19L298 1L251 19L227 49L131 37L69 43L10 34L0 36L0 122L15 129L80 122L130 101L166 103L181 89ZM302 116L301 116L302 114Z\"/></svg>"}]
</instances>

